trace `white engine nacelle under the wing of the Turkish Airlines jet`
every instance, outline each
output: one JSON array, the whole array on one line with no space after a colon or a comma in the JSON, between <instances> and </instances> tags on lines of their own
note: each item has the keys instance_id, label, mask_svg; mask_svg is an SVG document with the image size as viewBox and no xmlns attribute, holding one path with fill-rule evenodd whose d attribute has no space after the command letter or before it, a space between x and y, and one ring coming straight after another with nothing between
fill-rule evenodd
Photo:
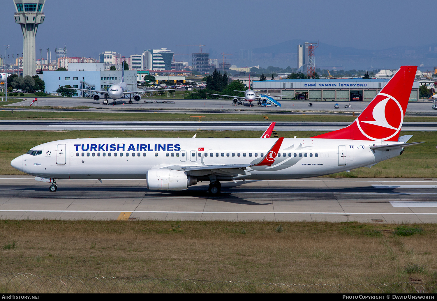
<instances>
[{"instance_id":1,"label":"white engine nacelle under the wing of the Turkish Airlines jet","mask_svg":"<svg viewBox=\"0 0 437 301\"><path fill-rule=\"evenodd\" d=\"M146 176L149 190L187 190L188 186L197 184L196 177L181 170L148 170Z\"/></svg>"}]
</instances>

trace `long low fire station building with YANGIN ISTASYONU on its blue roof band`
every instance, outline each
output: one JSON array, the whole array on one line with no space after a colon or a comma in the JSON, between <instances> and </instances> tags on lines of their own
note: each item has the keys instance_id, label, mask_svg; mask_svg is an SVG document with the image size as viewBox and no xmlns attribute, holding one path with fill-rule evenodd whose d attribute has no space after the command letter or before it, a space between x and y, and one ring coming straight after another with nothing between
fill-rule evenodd
<instances>
[{"instance_id":1,"label":"long low fire station building with YANGIN ISTASYONU on its blue roof band","mask_svg":"<svg viewBox=\"0 0 437 301\"><path fill-rule=\"evenodd\" d=\"M263 80L254 81L253 90L268 96L280 95L282 100L371 101L388 80ZM422 84L427 84L428 89L434 88L434 82L414 81L410 100L419 99Z\"/></svg>"}]
</instances>

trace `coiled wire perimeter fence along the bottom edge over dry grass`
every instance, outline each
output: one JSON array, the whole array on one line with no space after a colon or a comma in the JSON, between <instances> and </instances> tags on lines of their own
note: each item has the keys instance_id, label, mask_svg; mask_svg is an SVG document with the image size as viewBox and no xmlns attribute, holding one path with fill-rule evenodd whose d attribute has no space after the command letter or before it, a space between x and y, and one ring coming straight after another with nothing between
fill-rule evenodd
<instances>
[{"instance_id":1,"label":"coiled wire perimeter fence along the bottom edge over dry grass","mask_svg":"<svg viewBox=\"0 0 437 301\"><path fill-rule=\"evenodd\" d=\"M0 276L0 293L436 293L437 284L279 284L147 277Z\"/></svg>"}]
</instances>

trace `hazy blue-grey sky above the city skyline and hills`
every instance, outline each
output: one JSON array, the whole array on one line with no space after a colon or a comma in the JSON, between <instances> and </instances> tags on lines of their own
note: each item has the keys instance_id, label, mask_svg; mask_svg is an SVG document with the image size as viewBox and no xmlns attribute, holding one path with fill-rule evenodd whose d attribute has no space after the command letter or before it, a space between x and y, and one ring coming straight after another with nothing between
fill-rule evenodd
<instances>
[{"instance_id":1,"label":"hazy blue-grey sky above the city skyline and hills","mask_svg":"<svg viewBox=\"0 0 437 301\"><path fill-rule=\"evenodd\" d=\"M10 54L21 55L13 1L0 3L1 54L7 44ZM406 0L46 0L37 58L39 48L53 56L64 44L67 55L87 57L152 48L191 53L199 48L176 45L198 43L204 52L232 53L291 39L361 49L423 45L434 42L434 10L435 1Z\"/></svg>"}]
</instances>

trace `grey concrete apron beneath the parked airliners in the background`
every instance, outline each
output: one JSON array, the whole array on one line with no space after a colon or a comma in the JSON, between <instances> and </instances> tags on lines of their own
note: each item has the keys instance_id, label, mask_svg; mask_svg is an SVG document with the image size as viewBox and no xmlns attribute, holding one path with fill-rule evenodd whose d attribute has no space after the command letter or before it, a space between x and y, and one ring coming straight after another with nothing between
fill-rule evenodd
<instances>
[{"instance_id":1,"label":"grey concrete apron beneath the parked airliners in the background","mask_svg":"<svg viewBox=\"0 0 437 301\"><path fill-rule=\"evenodd\" d=\"M156 100L156 99L153 99ZM250 107L250 104L245 103L242 106L234 106L232 104L232 100L218 100L218 99L172 99L172 98L165 98L163 100L173 100L174 104L146 104L144 103L144 99L136 102L134 101L133 104L128 104L128 98L125 100L118 100L117 105L107 105L102 104L102 100L94 101L91 98L62 98L62 97L56 97L56 98L48 98L48 97L40 97L38 98L38 102L34 103L32 106L32 109L35 105L39 107L80 107L80 106L87 106L87 107L93 107L97 109L110 109L110 110L126 110L126 109L142 109L142 110L156 110L156 111L167 111L167 110L182 110L182 111L201 111L203 113L207 112L221 112L225 111L226 113L232 112L232 111L244 111L246 112L268 112L268 113L275 113L275 112L284 112L284 111L309 111L309 112L348 112L352 114L352 112L361 112L364 110L365 107L369 104L369 102L346 102L346 101L313 101L313 100L280 100L281 107L261 107L257 106L257 104L253 104L252 107ZM422 102L426 101L426 102ZM8 104L2 109L7 109L7 107L13 106L13 107L23 107L23 108L29 108L29 105L31 104L32 99L17 102L14 104ZM126 102L124 105L122 103ZM309 107L309 103L312 103L312 107ZM338 109L334 109L334 103L339 104ZM351 104L351 108L345 108L344 106L347 104ZM0 102L1 105L1 102ZM432 102L429 100L420 100L420 102L411 101L408 104L406 114L418 114L418 113L428 113L430 115L436 115L437 112L433 110L432 108Z\"/></svg>"}]
</instances>

